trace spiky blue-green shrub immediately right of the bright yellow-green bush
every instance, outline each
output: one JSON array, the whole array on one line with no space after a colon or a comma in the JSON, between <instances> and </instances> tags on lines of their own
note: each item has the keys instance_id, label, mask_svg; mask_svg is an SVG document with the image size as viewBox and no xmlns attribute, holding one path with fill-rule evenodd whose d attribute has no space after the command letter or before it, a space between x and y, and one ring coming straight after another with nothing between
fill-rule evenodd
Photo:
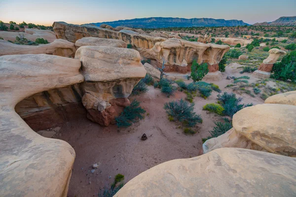
<instances>
[{"instance_id":1,"label":"spiky blue-green shrub immediately right of the bright yellow-green bush","mask_svg":"<svg viewBox=\"0 0 296 197\"><path fill-rule=\"evenodd\" d=\"M240 104L240 102L243 100L241 97L236 98L236 95L234 93L226 93L224 92L222 95L218 95L218 100L221 102L223 108L224 108L224 114L227 116L232 116L241 110L244 107L252 106L251 104Z\"/></svg>"}]
</instances>

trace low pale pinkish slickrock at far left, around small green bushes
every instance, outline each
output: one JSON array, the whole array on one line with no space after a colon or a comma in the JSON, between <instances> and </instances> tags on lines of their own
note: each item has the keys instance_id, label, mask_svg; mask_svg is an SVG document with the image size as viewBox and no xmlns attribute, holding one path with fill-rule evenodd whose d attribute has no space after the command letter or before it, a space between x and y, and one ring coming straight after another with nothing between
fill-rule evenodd
<instances>
[{"instance_id":1,"label":"low pale pinkish slickrock at far left, around small green bushes","mask_svg":"<svg viewBox=\"0 0 296 197\"><path fill-rule=\"evenodd\" d=\"M53 33L52 34L52 33L48 33L47 30L37 30L37 29L30 29L30 30L31 31L26 31L25 33L24 32L1 31L0 37L2 37L6 41L7 40L15 41L15 37L19 36L19 34L24 35L25 38L27 38L28 40L31 40L31 41L35 41L37 38L44 38L44 39L47 39L48 42L53 42L56 39L54 32L52 32ZM43 32L43 31L45 31L45 32Z\"/></svg>"}]
</instances>

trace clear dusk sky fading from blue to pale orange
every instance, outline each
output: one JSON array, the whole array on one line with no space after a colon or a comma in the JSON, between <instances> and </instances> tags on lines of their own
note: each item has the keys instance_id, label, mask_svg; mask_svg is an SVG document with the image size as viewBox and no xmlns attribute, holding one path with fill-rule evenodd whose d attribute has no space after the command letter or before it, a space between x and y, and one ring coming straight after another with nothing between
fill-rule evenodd
<instances>
[{"instance_id":1,"label":"clear dusk sky fading from blue to pale orange","mask_svg":"<svg viewBox=\"0 0 296 197\"><path fill-rule=\"evenodd\" d=\"M147 17L214 18L271 22L296 16L296 0L0 0L0 21L52 25Z\"/></svg>"}]
</instances>

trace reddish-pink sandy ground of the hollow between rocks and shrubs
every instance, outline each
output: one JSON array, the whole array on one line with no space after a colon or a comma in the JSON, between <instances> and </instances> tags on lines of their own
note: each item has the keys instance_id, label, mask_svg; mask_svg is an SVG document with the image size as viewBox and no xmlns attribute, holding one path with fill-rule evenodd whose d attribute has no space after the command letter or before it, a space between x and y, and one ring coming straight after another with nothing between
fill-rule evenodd
<instances>
[{"instance_id":1,"label":"reddish-pink sandy ground of the hollow between rocks and shrubs","mask_svg":"<svg viewBox=\"0 0 296 197\"><path fill-rule=\"evenodd\" d=\"M236 69L239 66L241 65L227 66L223 79L213 83L224 91L224 87L232 83L231 80L225 79L227 75L249 75L250 83L258 80L251 74L240 74L239 69ZM101 127L85 116L60 125L58 138L70 143L76 153L68 196L97 196L100 188L110 185L118 173L123 174L127 182L154 165L173 159L198 156L202 150L201 138L209 136L209 131L215 126L214 122L222 119L217 114L202 110L206 103L216 102L217 95L218 93L213 91L208 99L194 99L194 111L201 114L203 119L194 135L185 135L178 124L169 122L163 109L165 102L185 98L185 94L177 92L173 97L167 98L152 86L147 93L129 98L141 101L147 112L144 120L127 129L118 131L114 125ZM242 97L244 103L263 103L263 100L257 97L252 98L246 94ZM145 141L141 140L143 133L148 136ZM99 168L92 173L91 165L95 163L99 164Z\"/></svg>"}]
</instances>

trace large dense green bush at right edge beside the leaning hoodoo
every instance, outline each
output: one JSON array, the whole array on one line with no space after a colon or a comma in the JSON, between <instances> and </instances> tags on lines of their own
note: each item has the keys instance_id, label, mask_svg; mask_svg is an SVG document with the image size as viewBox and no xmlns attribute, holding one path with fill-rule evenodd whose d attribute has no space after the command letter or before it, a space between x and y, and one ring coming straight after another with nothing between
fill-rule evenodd
<instances>
[{"instance_id":1,"label":"large dense green bush at right edge beside the leaning hoodoo","mask_svg":"<svg viewBox=\"0 0 296 197\"><path fill-rule=\"evenodd\" d=\"M285 55L281 62L273 65L271 71L271 78L296 82L296 51Z\"/></svg>"}]
</instances>

